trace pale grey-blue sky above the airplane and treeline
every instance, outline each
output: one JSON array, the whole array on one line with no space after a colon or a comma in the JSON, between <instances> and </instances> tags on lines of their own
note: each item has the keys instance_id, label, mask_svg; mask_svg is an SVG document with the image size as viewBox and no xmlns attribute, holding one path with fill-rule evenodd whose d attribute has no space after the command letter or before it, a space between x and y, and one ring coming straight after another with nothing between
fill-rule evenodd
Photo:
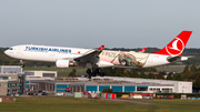
<instances>
[{"instance_id":1,"label":"pale grey-blue sky above the airplane and treeline","mask_svg":"<svg viewBox=\"0 0 200 112\"><path fill-rule=\"evenodd\" d=\"M200 48L200 0L1 0L0 47Z\"/></svg>"}]
</instances>

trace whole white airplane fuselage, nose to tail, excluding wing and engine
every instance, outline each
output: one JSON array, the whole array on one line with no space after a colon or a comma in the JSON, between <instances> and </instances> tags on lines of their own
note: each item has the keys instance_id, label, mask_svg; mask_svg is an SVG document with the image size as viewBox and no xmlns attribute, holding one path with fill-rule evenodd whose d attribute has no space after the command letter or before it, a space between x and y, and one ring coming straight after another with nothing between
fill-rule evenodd
<instances>
[{"instance_id":1,"label":"whole white airplane fuselage, nose to tail, excluding wing and engine","mask_svg":"<svg viewBox=\"0 0 200 112\"><path fill-rule=\"evenodd\" d=\"M47 47L47 45L14 45L4 51L4 53L11 58L28 60L28 61L41 61L41 62L56 62L57 60L72 60L79 58L92 49L79 49L79 48L62 48L62 47ZM99 54L98 67L111 67L111 65L129 65L139 68L150 68L170 63L167 58L169 55L141 53L141 52L122 52L122 51L109 51L103 50ZM127 58L127 60L124 59ZM131 59L132 58L132 59ZM133 60L134 58L134 60ZM134 64L131 62L133 60ZM101 61L101 62L100 62ZM127 64L127 63L130 64ZM101 65L103 63L103 65ZM87 64L87 63L86 63ZM106 64L106 65L104 65Z\"/></svg>"}]
</instances>

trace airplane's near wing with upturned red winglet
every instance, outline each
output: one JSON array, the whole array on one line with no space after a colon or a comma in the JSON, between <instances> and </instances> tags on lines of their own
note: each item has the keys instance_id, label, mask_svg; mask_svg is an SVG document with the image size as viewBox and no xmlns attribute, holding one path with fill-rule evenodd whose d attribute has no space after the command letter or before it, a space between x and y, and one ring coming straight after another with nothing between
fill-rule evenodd
<instances>
[{"instance_id":1,"label":"airplane's near wing with upturned red winglet","mask_svg":"<svg viewBox=\"0 0 200 112\"><path fill-rule=\"evenodd\" d=\"M86 64L86 63L97 63L99 61L99 54L104 49L104 45L101 45L97 50L90 50L86 52L83 55L74 58L73 60L79 64Z\"/></svg>"}]
</instances>

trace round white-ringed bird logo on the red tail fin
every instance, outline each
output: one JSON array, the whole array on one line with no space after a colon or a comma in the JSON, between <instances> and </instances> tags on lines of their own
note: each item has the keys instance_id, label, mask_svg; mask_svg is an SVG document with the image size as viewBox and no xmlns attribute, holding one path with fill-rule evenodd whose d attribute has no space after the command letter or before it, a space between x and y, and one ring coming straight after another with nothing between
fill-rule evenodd
<instances>
[{"instance_id":1,"label":"round white-ringed bird logo on the red tail fin","mask_svg":"<svg viewBox=\"0 0 200 112\"><path fill-rule=\"evenodd\" d=\"M176 38L171 43L166 47L166 50L170 55L180 55L183 49L184 43L179 38Z\"/></svg>"}]
</instances>

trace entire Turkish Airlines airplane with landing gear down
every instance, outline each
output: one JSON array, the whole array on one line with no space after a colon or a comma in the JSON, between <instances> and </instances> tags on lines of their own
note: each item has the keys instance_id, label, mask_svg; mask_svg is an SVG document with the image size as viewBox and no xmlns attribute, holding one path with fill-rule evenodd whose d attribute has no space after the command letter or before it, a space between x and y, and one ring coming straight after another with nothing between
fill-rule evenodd
<instances>
[{"instance_id":1,"label":"entire Turkish Airlines airplane with landing gear down","mask_svg":"<svg viewBox=\"0 0 200 112\"><path fill-rule=\"evenodd\" d=\"M11 58L27 61L53 62L57 68L87 67L91 77L106 75L100 68L142 69L177 61L186 61L189 57L181 57L192 31L182 31L168 45L154 53L134 51L98 49L63 48L50 45L21 44L13 45L4 53ZM22 67L24 67L22 64ZM97 68L97 70L92 70Z\"/></svg>"}]
</instances>

